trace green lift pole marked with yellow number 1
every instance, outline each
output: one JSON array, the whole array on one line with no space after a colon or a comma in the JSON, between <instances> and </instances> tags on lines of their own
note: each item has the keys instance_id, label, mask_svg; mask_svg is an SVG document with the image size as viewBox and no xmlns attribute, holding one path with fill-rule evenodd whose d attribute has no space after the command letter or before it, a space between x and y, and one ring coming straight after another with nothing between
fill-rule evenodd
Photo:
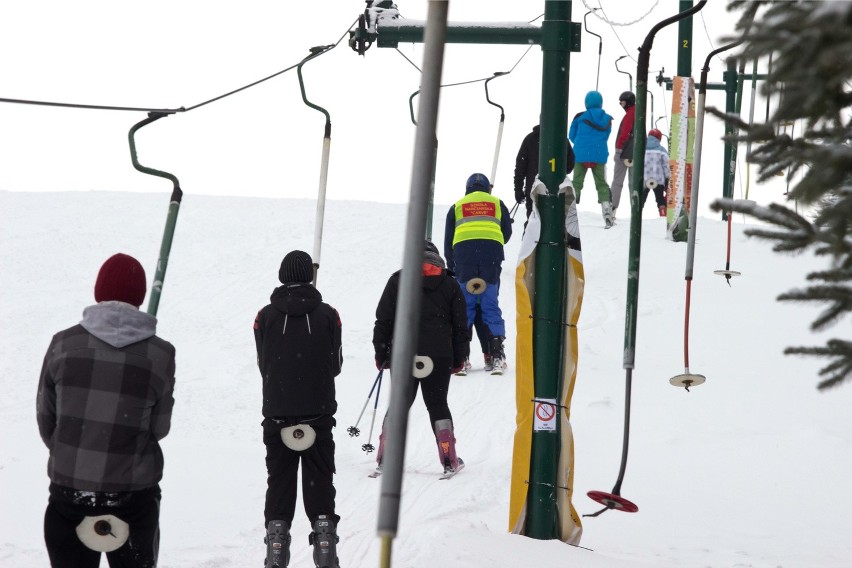
<instances>
[{"instance_id":1,"label":"green lift pole marked with yellow number 1","mask_svg":"<svg viewBox=\"0 0 852 568\"><path fill-rule=\"evenodd\" d=\"M559 400L565 330L565 179L568 126L569 40L571 2L545 2L542 33L541 151L538 171L547 194L536 199L541 236L536 245L533 308L533 369L536 400ZM579 34L577 35L579 41ZM573 199L573 196L571 197ZM557 277L554 277L557 275ZM559 424L561 408L556 405ZM554 539L559 535L556 510L559 431L533 431L527 496L526 535Z\"/></svg>"}]
</instances>

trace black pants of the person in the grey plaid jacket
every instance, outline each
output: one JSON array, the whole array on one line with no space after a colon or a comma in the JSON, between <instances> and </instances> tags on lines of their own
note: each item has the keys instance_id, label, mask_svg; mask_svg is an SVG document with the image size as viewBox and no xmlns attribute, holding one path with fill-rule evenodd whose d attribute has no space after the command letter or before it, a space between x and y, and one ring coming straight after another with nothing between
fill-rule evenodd
<instances>
[{"instance_id":1,"label":"black pants of the person in the grey plaid jacket","mask_svg":"<svg viewBox=\"0 0 852 568\"><path fill-rule=\"evenodd\" d=\"M116 493L77 491L50 484L44 542L52 568L98 568L101 553L77 537L84 517L113 515L130 525L124 546L107 552L110 568L155 568L160 548L160 488Z\"/></svg>"}]
</instances>

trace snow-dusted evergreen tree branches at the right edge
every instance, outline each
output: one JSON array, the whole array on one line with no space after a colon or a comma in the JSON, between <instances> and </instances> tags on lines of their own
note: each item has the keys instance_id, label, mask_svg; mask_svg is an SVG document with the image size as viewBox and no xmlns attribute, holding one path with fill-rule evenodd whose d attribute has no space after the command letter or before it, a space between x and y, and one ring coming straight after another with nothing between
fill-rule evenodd
<instances>
[{"instance_id":1,"label":"snow-dusted evergreen tree branches at the right edge","mask_svg":"<svg viewBox=\"0 0 852 568\"><path fill-rule=\"evenodd\" d=\"M827 304L811 323L812 330L823 330L852 316L852 2L737 0L728 10L742 11L740 57L771 56L763 94L781 96L766 124L748 125L739 117L714 114L740 129L732 139L757 144L748 159L759 165L760 181L785 172L791 180L803 172L787 197L812 213L806 217L784 205L730 199L718 199L711 207L774 226L746 234L773 242L776 252L810 250L826 258L829 268L808 274L810 285L778 297ZM793 121L803 124L795 137L783 128ZM847 334L849 329L842 327ZM820 389L852 381L848 337L830 339L822 347L788 347L784 353L827 358Z\"/></svg>"}]
</instances>

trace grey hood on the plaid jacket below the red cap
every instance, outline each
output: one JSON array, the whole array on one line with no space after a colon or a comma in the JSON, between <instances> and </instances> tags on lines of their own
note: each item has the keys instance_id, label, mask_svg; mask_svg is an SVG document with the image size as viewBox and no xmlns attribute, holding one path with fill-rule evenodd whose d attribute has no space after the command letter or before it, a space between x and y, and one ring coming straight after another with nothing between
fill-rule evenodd
<instances>
[{"instance_id":1,"label":"grey hood on the plaid jacket below the red cap","mask_svg":"<svg viewBox=\"0 0 852 568\"><path fill-rule=\"evenodd\" d=\"M101 302L87 307L80 325L113 347L126 347L157 333L157 318L124 302Z\"/></svg>"}]
</instances>

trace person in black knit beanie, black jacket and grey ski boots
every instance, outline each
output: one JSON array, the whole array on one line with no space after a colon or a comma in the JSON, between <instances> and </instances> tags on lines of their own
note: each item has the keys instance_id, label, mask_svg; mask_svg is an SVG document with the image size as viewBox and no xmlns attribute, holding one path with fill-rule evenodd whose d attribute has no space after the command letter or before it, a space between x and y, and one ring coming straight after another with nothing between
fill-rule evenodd
<instances>
[{"instance_id":1,"label":"person in black knit beanie, black jacket and grey ski boots","mask_svg":"<svg viewBox=\"0 0 852 568\"><path fill-rule=\"evenodd\" d=\"M257 365L263 378L263 443L268 472L266 568L284 568L290 558L290 527L296 510L299 463L302 498L313 532L314 562L336 567L334 512L334 377L343 363L337 311L311 284L308 253L294 250L278 272L283 284L254 321Z\"/></svg>"}]
</instances>

